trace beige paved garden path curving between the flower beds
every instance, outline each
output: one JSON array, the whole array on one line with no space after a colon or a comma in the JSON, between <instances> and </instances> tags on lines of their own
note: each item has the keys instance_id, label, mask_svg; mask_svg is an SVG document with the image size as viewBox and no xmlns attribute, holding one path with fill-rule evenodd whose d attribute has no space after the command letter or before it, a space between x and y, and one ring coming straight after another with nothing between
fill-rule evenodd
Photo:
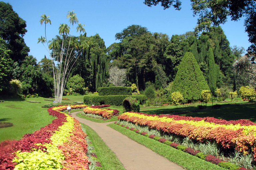
<instances>
[{"instance_id":1,"label":"beige paved garden path curving between the flower beds","mask_svg":"<svg viewBox=\"0 0 256 170\"><path fill-rule=\"evenodd\" d=\"M73 112L71 116L96 131L126 170L184 170L181 166L107 126L113 122L92 122L76 116L79 112L81 111Z\"/></svg>"}]
</instances>

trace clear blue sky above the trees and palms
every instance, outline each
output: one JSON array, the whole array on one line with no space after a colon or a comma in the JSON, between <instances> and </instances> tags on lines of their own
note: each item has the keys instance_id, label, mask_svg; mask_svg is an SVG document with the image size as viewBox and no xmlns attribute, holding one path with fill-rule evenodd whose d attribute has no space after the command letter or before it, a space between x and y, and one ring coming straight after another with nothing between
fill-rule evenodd
<instances>
[{"instance_id":1,"label":"clear blue sky above the trees and palms","mask_svg":"<svg viewBox=\"0 0 256 170\"><path fill-rule=\"evenodd\" d=\"M13 10L27 23L25 43L30 47L30 55L40 61L44 55L49 58L49 53L38 38L45 36L44 24L39 20L42 14L50 16L51 25L46 25L47 40L51 40L59 33L60 24L69 24L66 18L68 11L74 10L78 21L85 24L87 36L99 36L105 41L106 47L115 40L115 34L130 25L141 25L148 31L164 33L170 38L172 35L184 34L193 31L197 17L193 17L190 1L182 0L181 10L173 7L163 10L160 5L148 7L144 0L4 0L10 3ZM228 20L222 29L230 42L230 46L237 45L245 49L250 46L248 35L243 26L244 20L238 22ZM72 35L78 36L76 26Z\"/></svg>"}]
</instances>

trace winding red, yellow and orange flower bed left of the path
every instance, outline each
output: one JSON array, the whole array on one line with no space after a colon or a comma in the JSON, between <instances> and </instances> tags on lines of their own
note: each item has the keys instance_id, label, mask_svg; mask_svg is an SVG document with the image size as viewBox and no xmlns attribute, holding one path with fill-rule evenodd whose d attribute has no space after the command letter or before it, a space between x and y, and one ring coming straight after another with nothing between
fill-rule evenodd
<instances>
[{"instance_id":1,"label":"winding red, yellow and orange flower bed left of the path","mask_svg":"<svg viewBox=\"0 0 256 170\"><path fill-rule=\"evenodd\" d=\"M60 112L66 107L49 108L49 114L57 119L40 130L25 134L21 140L1 142L0 170L89 169L87 143L84 140L86 134L77 120Z\"/></svg>"}]
</instances>

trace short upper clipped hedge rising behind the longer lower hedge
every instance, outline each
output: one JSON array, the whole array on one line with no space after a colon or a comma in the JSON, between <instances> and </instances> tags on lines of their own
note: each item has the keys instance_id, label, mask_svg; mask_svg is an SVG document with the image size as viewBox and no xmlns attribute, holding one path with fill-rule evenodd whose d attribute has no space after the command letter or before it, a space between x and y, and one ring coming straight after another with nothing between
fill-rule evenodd
<instances>
[{"instance_id":1,"label":"short upper clipped hedge rising behind the longer lower hedge","mask_svg":"<svg viewBox=\"0 0 256 170\"><path fill-rule=\"evenodd\" d=\"M97 92L99 96L132 95L132 88L123 86L99 87Z\"/></svg>"}]
</instances>

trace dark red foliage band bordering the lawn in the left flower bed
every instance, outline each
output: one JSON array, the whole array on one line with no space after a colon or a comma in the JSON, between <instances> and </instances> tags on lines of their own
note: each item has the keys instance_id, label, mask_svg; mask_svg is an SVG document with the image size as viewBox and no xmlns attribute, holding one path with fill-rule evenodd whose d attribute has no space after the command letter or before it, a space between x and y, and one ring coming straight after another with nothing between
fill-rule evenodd
<instances>
[{"instance_id":1,"label":"dark red foliage band bordering the lawn in the left flower bed","mask_svg":"<svg viewBox=\"0 0 256 170\"><path fill-rule=\"evenodd\" d=\"M61 106L58 106L58 108ZM74 106L74 108L83 108L83 106ZM56 116L57 119L53 120L51 124L37 130L31 134L25 134L21 140L6 140L0 143L0 170L14 169L14 165L16 163L12 163L12 159L15 157L16 151L21 152L30 152L33 150L42 150L47 152L47 148L43 145L36 145L36 143L50 143L50 137L54 134L55 130L58 130L60 126L63 125L64 122L67 122L66 115L60 113L58 111L63 111L66 109L60 108L57 110L53 110L54 107L49 108L47 111L49 115ZM72 106L71 106L72 108ZM79 124L80 125L80 124ZM85 147L87 149L87 147Z\"/></svg>"}]
</instances>

